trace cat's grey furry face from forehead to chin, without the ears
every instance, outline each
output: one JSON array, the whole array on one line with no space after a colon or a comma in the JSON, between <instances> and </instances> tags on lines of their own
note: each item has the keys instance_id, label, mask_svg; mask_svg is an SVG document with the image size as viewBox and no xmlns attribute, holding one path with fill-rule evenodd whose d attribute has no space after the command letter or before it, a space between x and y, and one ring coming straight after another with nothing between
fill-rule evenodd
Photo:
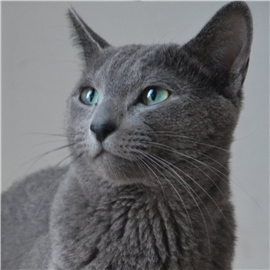
<instances>
[{"instance_id":1,"label":"cat's grey furry face from forehead to chin, without the ears","mask_svg":"<svg viewBox=\"0 0 270 270\"><path fill-rule=\"evenodd\" d=\"M178 56L168 61L171 51ZM176 72L172 61L182 54L180 46L128 46L93 60L69 101L71 142L85 167L107 179L145 181L147 171L164 167L158 157L176 163L200 156L207 147L196 142L228 149L238 109L215 91L198 89L194 76L188 81ZM185 68L179 64L178 71ZM85 104L83 92L94 89L96 103ZM106 122L115 129L99 141L91 125Z\"/></svg>"}]
</instances>

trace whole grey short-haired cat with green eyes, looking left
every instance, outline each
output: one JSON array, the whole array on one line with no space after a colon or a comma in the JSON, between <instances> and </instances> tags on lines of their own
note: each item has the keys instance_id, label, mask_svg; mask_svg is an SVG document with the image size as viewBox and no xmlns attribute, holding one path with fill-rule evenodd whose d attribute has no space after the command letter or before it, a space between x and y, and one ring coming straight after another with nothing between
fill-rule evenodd
<instances>
[{"instance_id":1,"label":"whole grey short-haired cat with green eyes, looking left","mask_svg":"<svg viewBox=\"0 0 270 270\"><path fill-rule=\"evenodd\" d=\"M1 269L232 269L249 7L225 5L183 46L114 47L68 17L84 63L65 120L73 160L2 194Z\"/></svg>"}]
</instances>

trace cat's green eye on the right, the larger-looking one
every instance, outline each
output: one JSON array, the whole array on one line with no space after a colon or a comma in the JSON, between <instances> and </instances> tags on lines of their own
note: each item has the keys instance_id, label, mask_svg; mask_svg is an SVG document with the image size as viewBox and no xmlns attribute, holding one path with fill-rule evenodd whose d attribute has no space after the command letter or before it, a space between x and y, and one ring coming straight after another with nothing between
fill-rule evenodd
<instances>
[{"instance_id":1,"label":"cat's green eye on the right, the larger-looking one","mask_svg":"<svg viewBox=\"0 0 270 270\"><path fill-rule=\"evenodd\" d=\"M151 87L143 92L142 101L145 105L155 105L169 97L170 93L162 88Z\"/></svg>"}]
</instances>

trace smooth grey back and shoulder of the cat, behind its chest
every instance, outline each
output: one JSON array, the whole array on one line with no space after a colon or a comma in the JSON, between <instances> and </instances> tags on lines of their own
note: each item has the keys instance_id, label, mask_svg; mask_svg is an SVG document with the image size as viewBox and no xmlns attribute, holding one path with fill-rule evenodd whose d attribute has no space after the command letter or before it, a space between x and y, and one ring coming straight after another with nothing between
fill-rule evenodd
<instances>
[{"instance_id":1,"label":"smooth grey back and shoulder of the cat, behind its chest","mask_svg":"<svg viewBox=\"0 0 270 270\"><path fill-rule=\"evenodd\" d=\"M48 232L52 201L67 171L66 167L38 171L1 194L3 260L0 263L5 268L18 269L21 258Z\"/></svg>"}]
</instances>

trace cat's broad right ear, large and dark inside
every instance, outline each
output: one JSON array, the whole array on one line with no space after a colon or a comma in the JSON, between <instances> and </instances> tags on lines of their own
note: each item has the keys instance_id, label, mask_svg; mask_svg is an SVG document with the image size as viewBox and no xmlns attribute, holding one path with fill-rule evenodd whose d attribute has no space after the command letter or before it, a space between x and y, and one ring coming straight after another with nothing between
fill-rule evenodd
<instances>
[{"instance_id":1,"label":"cat's broad right ear, large and dark inside","mask_svg":"<svg viewBox=\"0 0 270 270\"><path fill-rule=\"evenodd\" d=\"M244 82L252 42L252 17L245 2L221 8L185 47L216 74L234 74ZM222 76L222 75L221 75Z\"/></svg>"}]
</instances>

